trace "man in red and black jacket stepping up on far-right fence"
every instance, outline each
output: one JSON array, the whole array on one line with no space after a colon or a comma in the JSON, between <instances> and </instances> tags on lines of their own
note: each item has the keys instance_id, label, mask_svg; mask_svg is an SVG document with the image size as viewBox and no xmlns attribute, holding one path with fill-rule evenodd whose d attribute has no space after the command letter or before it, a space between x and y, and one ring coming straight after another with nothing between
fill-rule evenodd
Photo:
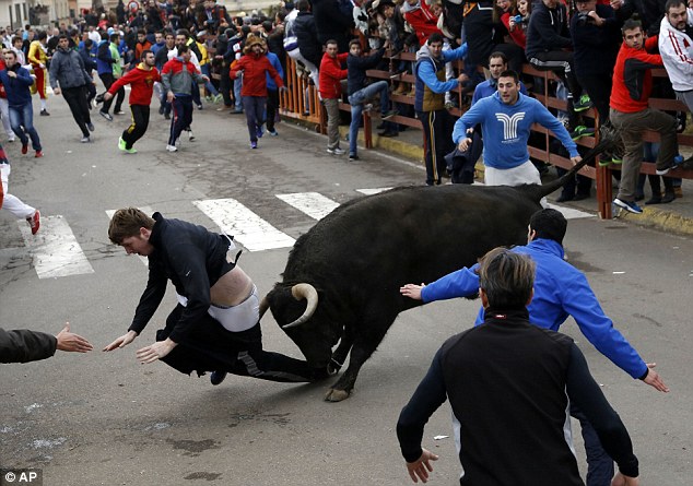
<instances>
[{"instance_id":1,"label":"man in red and black jacket stepping up on far-right fence","mask_svg":"<svg viewBox=\"0 0 693 486\"><path fill-rule=\"evenodd\" d=\"M677 163L683 161L677 159L677 119L649 107L651 70L662 66L661 56L648 54L648 50L657 47L657 36L645 39L641 22L633 19L624 22L621 32L623 45L613 70L610 119L623 140L625 154L619 194L613 203L631 213L641 214L643 210L635 202L635 191L643 164L643 133L646 130L659 133L658 176L668 174Z\"/></svg>"}]
</instances>

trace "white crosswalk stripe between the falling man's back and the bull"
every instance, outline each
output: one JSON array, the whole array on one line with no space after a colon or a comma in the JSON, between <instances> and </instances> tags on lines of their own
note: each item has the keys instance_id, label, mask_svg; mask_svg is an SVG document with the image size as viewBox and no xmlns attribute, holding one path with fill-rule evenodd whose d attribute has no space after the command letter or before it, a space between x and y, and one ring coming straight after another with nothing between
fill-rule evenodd
<instances>
[{"instance_id":1,"label":"white crosswalk stripe between the falling man's back and the bull","mask_svg":"<svg viewBox=\"0 0 693 486\"><path fill-rule=\"evenodd\" d=\"M248 251L293 247L295 240L262 220L234 199L208 199L192 202L223 233L234 237Z\"/></svg>"}]
</instances>

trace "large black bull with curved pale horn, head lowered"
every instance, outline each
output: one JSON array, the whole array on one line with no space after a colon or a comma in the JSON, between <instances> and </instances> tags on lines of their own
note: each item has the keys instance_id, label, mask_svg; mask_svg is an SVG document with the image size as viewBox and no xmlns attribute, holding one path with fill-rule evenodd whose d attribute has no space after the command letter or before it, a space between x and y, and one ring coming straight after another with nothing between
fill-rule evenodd
<instances>
[{"instance_id":1,"label":"large black bull with curved pale horn, head lowered","mask_svg":"<svg viewBox=\"0 0 693 486\"><path fill-rule=\"evenodd\" d=\"M421 305L401 296L401 285L432 282L495 247L526 244L541 198L609 144L545 186L406 187L342 204L298 238L263 307L316 367L336 372L351 351L326 395L344 400L397 315Z\"/></svg>"}]
</instances>

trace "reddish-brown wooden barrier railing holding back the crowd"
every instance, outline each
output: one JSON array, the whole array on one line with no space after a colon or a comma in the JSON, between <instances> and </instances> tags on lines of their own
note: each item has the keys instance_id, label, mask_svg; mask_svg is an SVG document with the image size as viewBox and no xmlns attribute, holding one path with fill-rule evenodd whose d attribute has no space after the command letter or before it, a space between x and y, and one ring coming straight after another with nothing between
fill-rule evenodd
<instances>
[{"instance_id":1,"label":"reddish-brown wooden barrier railing holding back the crowd","mask_svg":"<svg viewBox=\"0 0 693 486\"><path fill-rule=\"evenodd\" d=\"M372 69L366 71L366 74L375 80L386 80L390 83L404 82L409 84L414 84L415 79L412 74L407 72L399 73L396 72L395 66L400 61L413 62L415 61L414 52L399 52L395 56L390 56L386 52L385 58L390 60L389 71L385 70L376 70ZM456 61L456 68L458 70L462 67L461 61ZM280 95L280 112L289 118L302 119L312 123L316 123L316 131L320 133L327 133L327 116L324 114L321 105L319 104L319 97L317 94L317 86L309 84L306 81L306 76L301 76L296 74L295 63L291 58L287 58L286 61L286 79L287 79L287 87L289 92ZM460 71L461 72L461 71ZM557 81L557 78L551 71L539 71L536 70L530 64L525 64L522 72L525 74L531 75L533 78L539 78L543 80L543 90L542 93L530 93L537 99L539 99L544 106L551 109L567 111L567 102L565 99L559 99L555 96L552 96L550 84ZM663 69L653 70L653 75L657 78L666 78L667 72ZM307 91L308 98L310 99L309 104L306 105L304 102L304 93ZM455 88L454 92L457 95L458 104L456 108L450 109L450 114L454 116L461 116L468 107L462 104L462 94L458 88ZM395 103L412 105L414 104L413 96L400 95L400 94L391 94L390 99ZM663 99L663 98L650 98L649 106L660 110L669 110L669 111L688 111L686 106L676 99ZM339 107L341 110L351 111L351 106L348 103L340 103ZM363 112L363 121L364 121L364 140L366 149L373 147L373 118L378 118L377 110L374 114L369 111ZM584 137L576 141L578 145L586 147L594 147L599 142L599 117L596 114L594 108L590 108L587 111L582 112L583 117L588 117L595 120L595 137ZM403 115L397 115L390 119L390 121L406 125L407 127L421 129L421 121L415 117L407 117ZM531 157L543 161L548 164L554 165L556 167L562 167L565 169L569 169L573 164L568 158L562 157L560 155L553 154L550 151L550 140L551 132L543 127L535 125L532 127L532 131L539 134L542 134L543 146L533 146L528 145L529 154ZM422 131L423 135L423 131ZM536 138L535 138L536 139ZM693 146L693 135L690 134L679 134L679 144L684 146ZM646 131L644 134L644 140L647 142L658 142L659 134L654 131ZM423 141L424 147L426 145L426 140ZM597 161L599 162L599 161ZM601 218L610 220L612 217L612 208L611 201L613 200L613 187L612 187L612 171L620 170L620 165L610 164L607 166L600 166L596 164L595 167L586 166L583 167L579 171L580 175L589 177L594 179L596 182L597 190L597 211ZM655 164L644 162L641 174L655 174ZM684 170L684 169L674 169L671 170L665 177L678 177L683 179L693 179L693 169Z\"/></svg>"}]
</instances>

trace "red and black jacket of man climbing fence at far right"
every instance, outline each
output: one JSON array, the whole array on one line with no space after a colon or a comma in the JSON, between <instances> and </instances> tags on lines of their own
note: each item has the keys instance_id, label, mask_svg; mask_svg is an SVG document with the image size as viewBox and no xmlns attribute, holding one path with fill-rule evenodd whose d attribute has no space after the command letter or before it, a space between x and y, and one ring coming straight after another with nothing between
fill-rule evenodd
<instances>
[{"instance_id":1,"label":"red and black jacket of man climbing fence at far right","mask_svg":"<svg viewBox=\"0 0 693 486\"><path fill-rule=\"evenodd\" d=\"M645 40L644 49L634 49L623 43L613 68L610 106L621 112L634 114L647 108L653 91L654 68L663 66L661 56L647 54L657 47L657 36Z\"/></svg>"}]
</instances>

